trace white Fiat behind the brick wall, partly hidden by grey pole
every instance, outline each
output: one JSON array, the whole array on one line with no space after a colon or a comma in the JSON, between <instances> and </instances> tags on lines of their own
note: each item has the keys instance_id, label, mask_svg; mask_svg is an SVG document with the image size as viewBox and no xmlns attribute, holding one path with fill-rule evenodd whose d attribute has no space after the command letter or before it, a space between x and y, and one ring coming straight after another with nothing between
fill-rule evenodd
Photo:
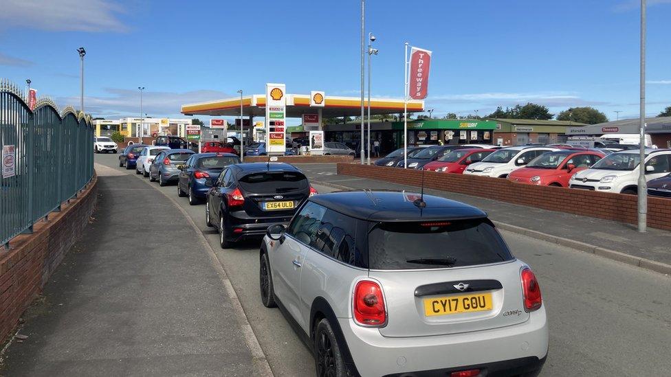
<instances>
[{"instance_id":1,"label":"white Fiat behind the brick wall, partly hidden by grey pole","mask_svg":"<svg viewBox=\"0 0 671 377\"><path fill-rule=\"evenodd\" d=\"M600 192L638 192L638 150L621 150L600 159L591 168L575 173L569 187ZM646 181L671 172L671 149L646 149Z\"/></svg>"}]
</instances>

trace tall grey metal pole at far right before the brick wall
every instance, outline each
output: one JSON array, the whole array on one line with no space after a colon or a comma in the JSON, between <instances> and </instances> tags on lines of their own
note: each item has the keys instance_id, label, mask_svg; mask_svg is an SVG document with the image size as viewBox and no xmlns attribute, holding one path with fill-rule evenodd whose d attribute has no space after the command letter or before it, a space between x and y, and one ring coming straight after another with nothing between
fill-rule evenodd
<instances>
[{"instance_id":1,"label":"tall grey metal pole at far right before the brick wall","mask_svg":"<svg viewBox=\"0 0 671 377\"><path fill-rule=\"evenodd\" d=\"M646 182L646 0L641 0L641 102L639 132L641 133L638 182L639 231L648 226L648 183Z\"/></svg>"}]
</instances>

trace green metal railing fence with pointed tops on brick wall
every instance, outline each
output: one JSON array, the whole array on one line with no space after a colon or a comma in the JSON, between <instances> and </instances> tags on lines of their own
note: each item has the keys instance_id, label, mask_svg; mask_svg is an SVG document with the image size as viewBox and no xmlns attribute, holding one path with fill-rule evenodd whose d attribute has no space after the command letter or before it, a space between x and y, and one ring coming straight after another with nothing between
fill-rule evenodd
<instances>
[{"instance_id":1,"label":"green metal railing fence with pointed tops on brick wall","mask_svg":"<svg viewBox=\"0 0 671 377\"><path fill-rule=\"evenodd\" d=\"M60 211L94 175L94 129L88 115L49 98L30 110L17 85L0 79L0 246Z\"/></svg>"}]
</instances>

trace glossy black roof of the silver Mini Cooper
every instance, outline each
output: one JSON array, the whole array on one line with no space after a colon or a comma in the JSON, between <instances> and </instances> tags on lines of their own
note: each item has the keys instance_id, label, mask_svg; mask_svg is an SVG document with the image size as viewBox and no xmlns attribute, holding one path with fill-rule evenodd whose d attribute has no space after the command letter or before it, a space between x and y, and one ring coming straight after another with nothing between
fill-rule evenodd
<instances>
[{"instance_id":1,"label":"glossy black roof of the silver Mini Cooper","mask_svg":"<svg viewBox=\"0 0 671 377\"><path fill-rule=\"evenodd\" d=\"M481 209L440 196L424 194L426 207L412 203L417 192L342 191L319 194L309 200L341 214L375 222L463 220L485 218Z\"/></svg>"}]
</instances>

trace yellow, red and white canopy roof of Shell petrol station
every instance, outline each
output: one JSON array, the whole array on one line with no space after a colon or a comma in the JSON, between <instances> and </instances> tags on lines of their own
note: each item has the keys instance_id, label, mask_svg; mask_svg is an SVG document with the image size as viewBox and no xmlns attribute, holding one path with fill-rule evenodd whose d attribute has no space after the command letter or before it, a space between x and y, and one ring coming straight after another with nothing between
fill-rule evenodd
<instances>
[{"instance_id":1,"label":"yellow, red and white canopy roof of Shell petrol station","mask_svg":"<svg viewBox=\"0 0 671 377\"><path fill-rule=\"evenodd\" d=\"M225 98L211 102L185 104L181 106L184 115L230 116L240 115L240 97ZM303 114L321 112L322 117L354 117L361 115L361 98L324 96L324 106L311 106L310 95L287 94L287 117L300 118ZM364 100L366 114L368 100ZM371 98L371 115L399 114L404 111L403 100ZM424 111L424 101L408 100L408 113ZM254 94L242 98L243 116L264 117L265 95Z\"/></svg>"}]
</instances>

